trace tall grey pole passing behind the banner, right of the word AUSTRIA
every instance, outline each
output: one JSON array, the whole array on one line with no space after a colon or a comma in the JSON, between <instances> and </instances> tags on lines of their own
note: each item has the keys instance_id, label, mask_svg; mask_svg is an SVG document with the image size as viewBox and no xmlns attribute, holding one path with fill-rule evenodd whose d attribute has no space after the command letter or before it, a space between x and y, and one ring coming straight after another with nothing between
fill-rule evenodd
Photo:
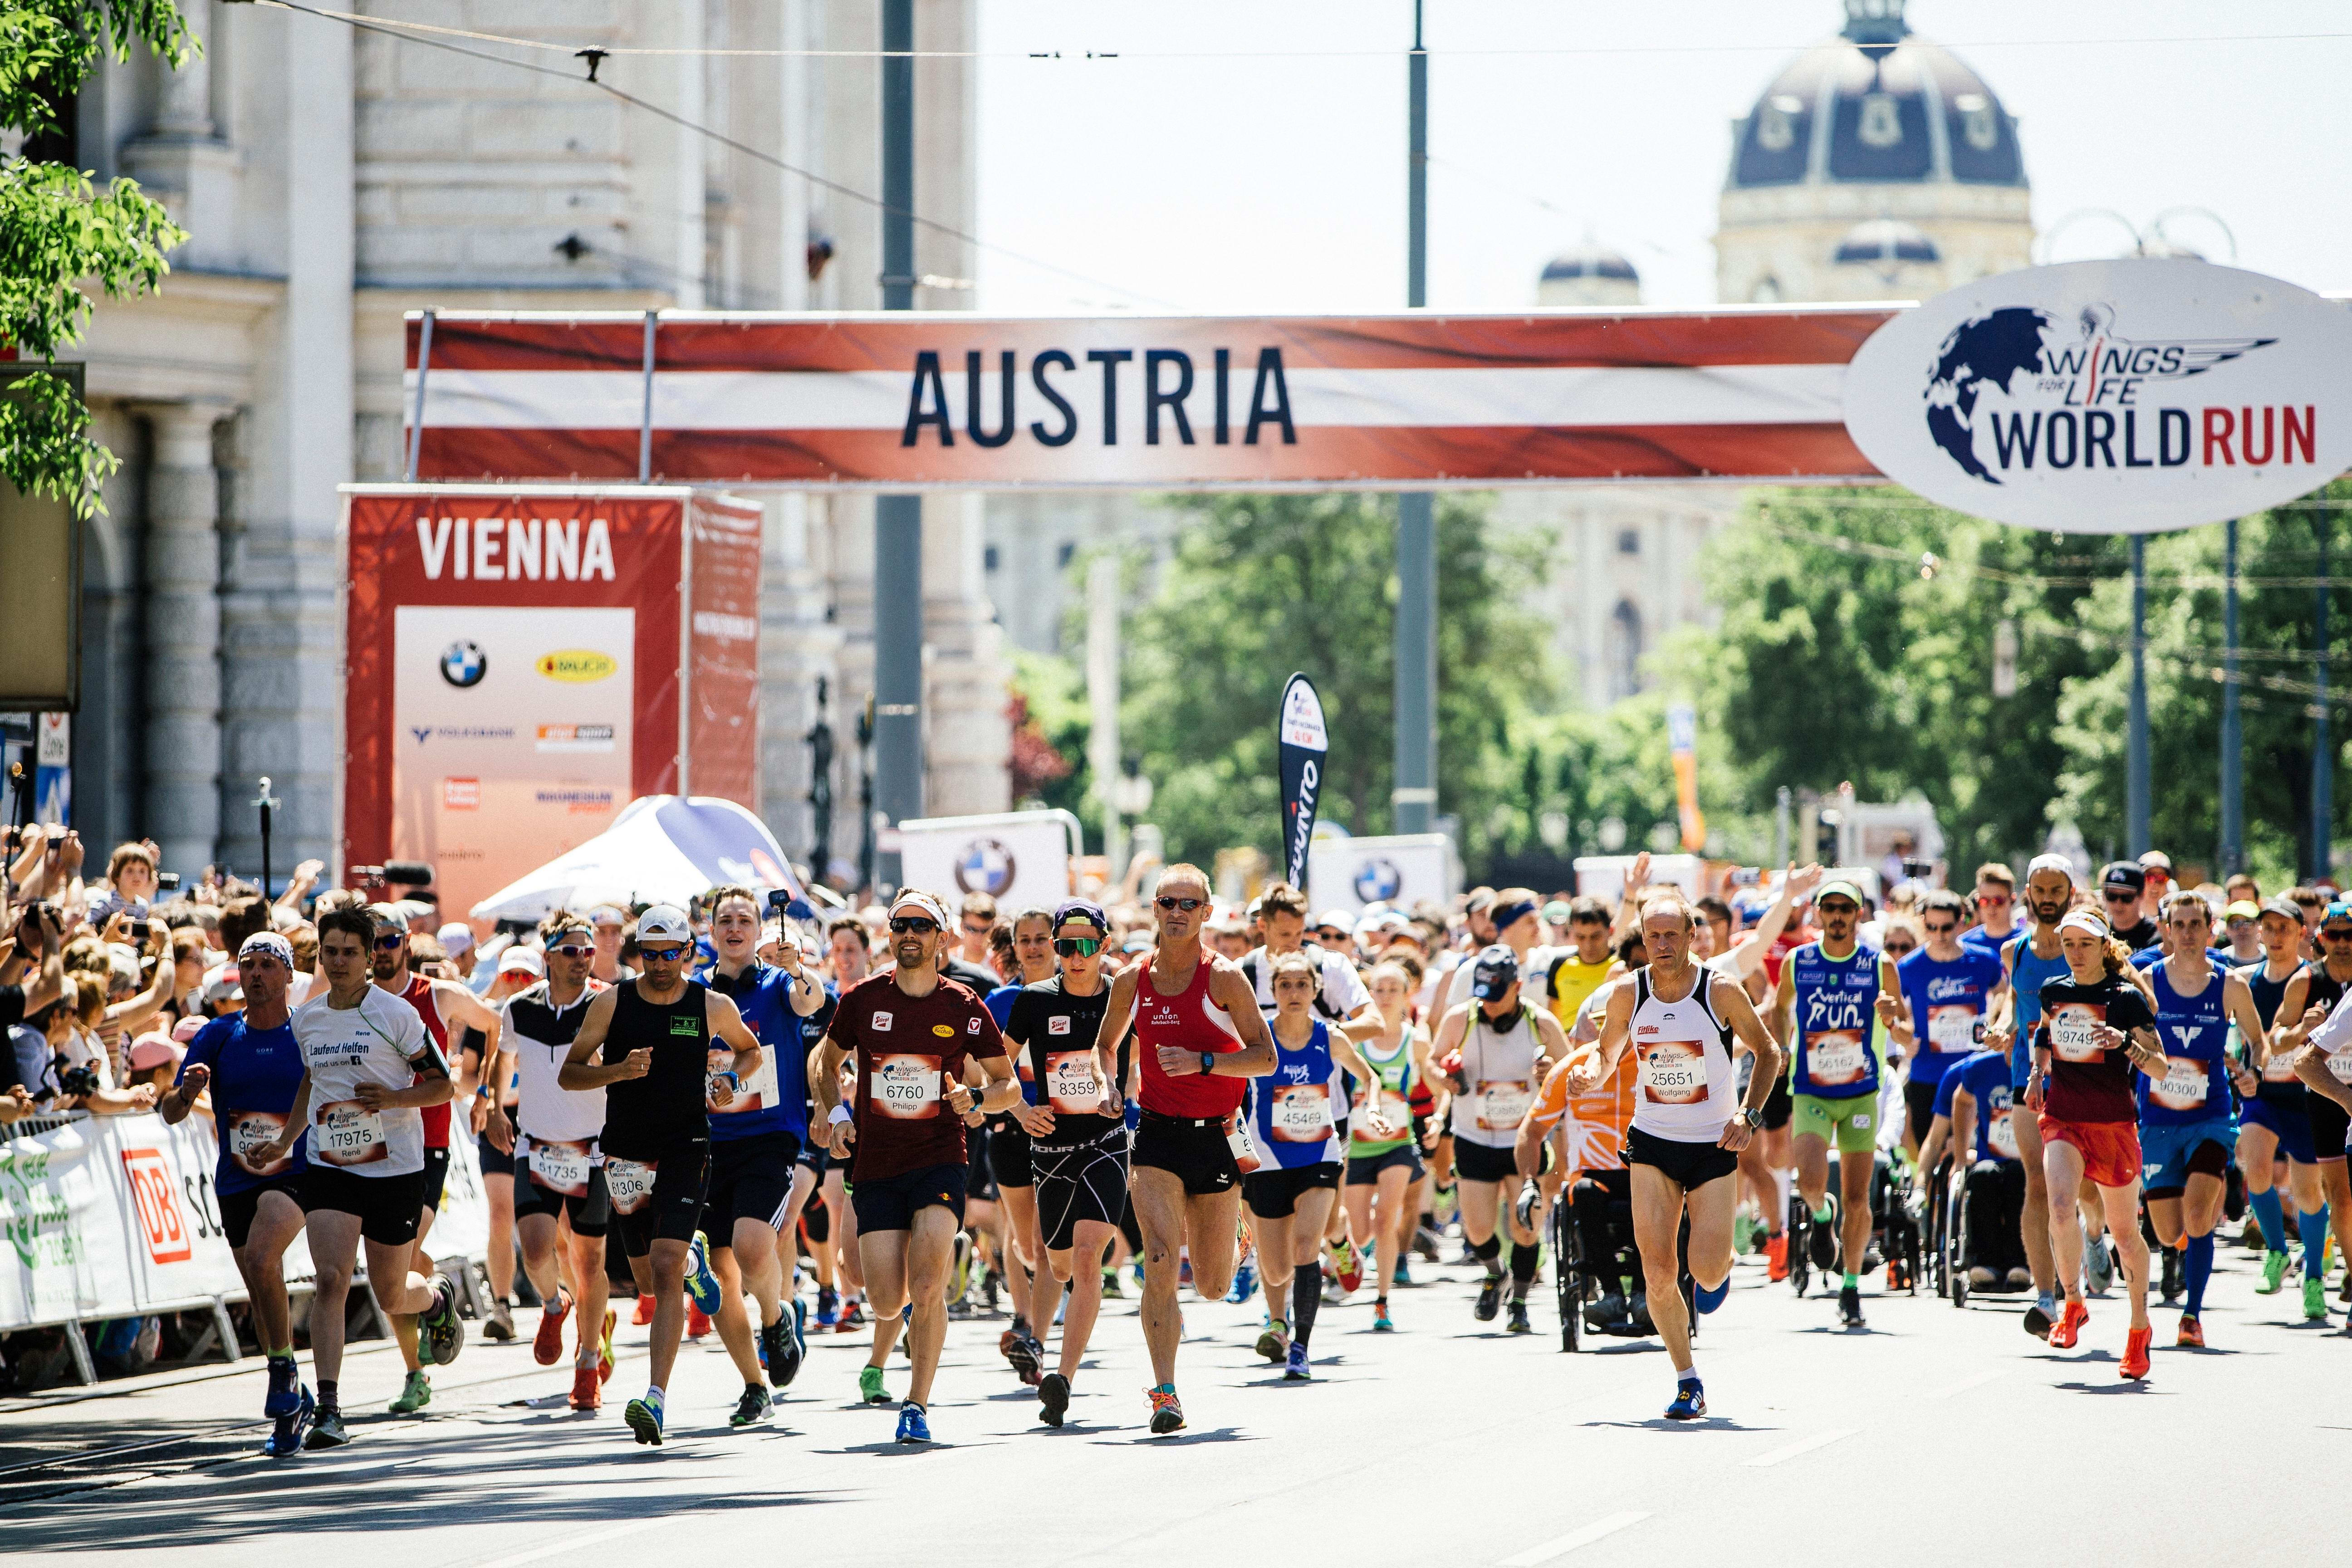
<instances>
[{"instance_id":1,"label":"tall grey pole passing behind the banner, right of the word AUSTRIA","mask_svg":"<svg viewBox=\"0 0 2352 1568\"><path fill-rule=\"evenodd\" d=\"M1404 165L1404 303L1430 303L1430 52L1406 56L1411 106ZM1430 494L1397 496L1397 832L1428 832L1437 818L1437 522Z\"/></svg>"}]
</instances>

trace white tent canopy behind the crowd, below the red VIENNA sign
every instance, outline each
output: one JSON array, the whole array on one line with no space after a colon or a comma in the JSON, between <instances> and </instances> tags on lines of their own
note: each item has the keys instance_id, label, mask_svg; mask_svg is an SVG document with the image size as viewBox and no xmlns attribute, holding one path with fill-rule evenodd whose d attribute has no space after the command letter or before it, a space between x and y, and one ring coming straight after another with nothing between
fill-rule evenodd
<instances>
[{"instance_id":1,"label":"white tent canopy behind the crowd, below the red VIENNA sign","mask_svg":"<svg viewBox=\"0 0 2352 1568\"><path fill-rule=\"evenodd\" d=\"M640 795L612 827L517 877L482 903L475 919L546 919L600 903L675 903L722 882L786 889L804 898L767 825L713 795Z\"/></svg>"}]
</instances>

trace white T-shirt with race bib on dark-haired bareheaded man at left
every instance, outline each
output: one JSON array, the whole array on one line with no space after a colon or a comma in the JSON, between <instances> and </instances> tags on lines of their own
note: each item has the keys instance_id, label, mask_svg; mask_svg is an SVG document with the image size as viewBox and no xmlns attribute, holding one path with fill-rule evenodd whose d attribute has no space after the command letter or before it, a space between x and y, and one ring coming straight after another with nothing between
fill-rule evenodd
<instances>
[{"instance_id":1,"label":"white T-shirt with race bib on dark-haired bareheaded man at left","mask_svg":"<svg viewBox=\"0 0 2352 1568\"><path fill-rule=\"evenodd\" d=\"M426 1126L414 1105L367 1110L360 1084L409 1088L440 1048L400 997L369 985L360 1006L329 1006L332 994L294 1009L294 1039L310 1074L310 1164L353 1175L409 1175L426 1168Z\"/></svg>"}]
</instances>

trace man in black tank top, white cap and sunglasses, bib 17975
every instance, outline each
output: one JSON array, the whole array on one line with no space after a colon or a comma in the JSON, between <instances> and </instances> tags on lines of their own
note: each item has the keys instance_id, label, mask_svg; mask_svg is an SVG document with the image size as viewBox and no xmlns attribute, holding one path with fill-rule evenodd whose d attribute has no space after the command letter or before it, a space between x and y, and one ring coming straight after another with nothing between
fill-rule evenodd
<instances>
[{"instance_id":1,"label":"man in black tank top, white cap and sunglasses, bib 17975","mask_svg":"<svg viewBox=\"0 0 2352 1568\"><path fill-rule=\"evenodd\" d=\"M621 1227L628 1272L654 1295L647 1338L652 1385L623 1418L640 1443L661 1443L663 1403L677 1340L687 1328L687 1272L703 1276L703 1192L710 1180L710 1105L724 1110L739 1084L760 1072L760 1039L722 992L687 978L694 926L687 912L656 903L637 917L635 980L602 990L588 1004L555 1081L602 1088L604 1192ZM715 1070L710 1056L734 1048ZM602 1060L597 1053L602 1051ZM762 1399L767 1389L760 1389Z\"/></svg>"}]
</instances>

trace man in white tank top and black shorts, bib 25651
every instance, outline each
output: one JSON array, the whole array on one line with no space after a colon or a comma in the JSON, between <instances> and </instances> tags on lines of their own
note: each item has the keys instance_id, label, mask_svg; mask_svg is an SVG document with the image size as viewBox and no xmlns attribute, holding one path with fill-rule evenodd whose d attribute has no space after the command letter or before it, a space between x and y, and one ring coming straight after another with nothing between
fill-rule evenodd
<instances>
[{"instance_id":1,"label":"man in white tank top and black shorts, bib 25651","mask_svg":"<svg viewBox=\"0 0 2352 1568\"><path fill-rule=\"evenodd\" d=\"M1780 1046L1757 1018L1748 990L1691 957L1691 905L1665 891L1642 914L1649 964L1609 992L1599 1056L1566 1084L1571 1095L1606 1084L1625 1051L1639 1053L1625 1164L1632 1168L1632 1232L1649 1284L1649 1316L1675 1361L1668 1420L1698 1420L1708 1396L1691 1363L1691 1319L1682 1300L1677 1234L1691 1220L1693 1305L1715 1312L1731 1291L1731 1211L1738 1204L1738 1152L1764 1119L1780 1077ZM1733 1046L1733 1041L1738 1041ZM1733 1048L1757 1070L1738 1105Z\"/></svg>"}]
</instances>

